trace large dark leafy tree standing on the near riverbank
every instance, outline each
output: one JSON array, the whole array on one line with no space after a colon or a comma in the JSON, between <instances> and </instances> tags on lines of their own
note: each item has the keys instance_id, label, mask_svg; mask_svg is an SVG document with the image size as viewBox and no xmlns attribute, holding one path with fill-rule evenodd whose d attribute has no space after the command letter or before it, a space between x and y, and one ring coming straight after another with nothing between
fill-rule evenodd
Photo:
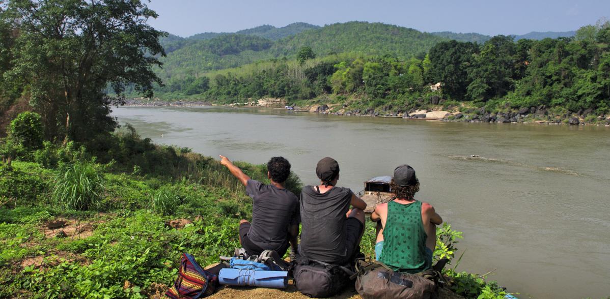
<instances>
[{"instance_id":1,"label":"large dark leafy tree standing on the near riverbank","mask_svg":"<svg viewBox=\"0 0 610 299\"><path fill-rule=\"evenodd\" d=\"M18 32L12 68L4 80L21 82L45 122L46 136L86 141L111 132L111 86L152 96L152 71L165 55L163 32L149 26L157 14L139 0L12 0L3 19Z\"/></svg>"}]
</instances>

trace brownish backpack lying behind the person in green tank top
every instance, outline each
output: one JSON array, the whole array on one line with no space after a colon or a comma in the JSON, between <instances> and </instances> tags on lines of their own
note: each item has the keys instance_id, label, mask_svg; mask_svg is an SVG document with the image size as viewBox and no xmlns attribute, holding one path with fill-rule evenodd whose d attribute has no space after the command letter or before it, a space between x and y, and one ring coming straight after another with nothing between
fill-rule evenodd
<instances>
[{"instance_id":1,"label":"brownish backpack lying behind the person in green tank top","mask_svg":"<svg viewBox=\"0 0 610 299\"><path fill-rule=\"evenodd\" d=\"M378 261L359 261L356 269L356 291L364 299L435 299L442 278L440 271L433 269L416 274L394 272Z\"/></svg>"}]
</instances>

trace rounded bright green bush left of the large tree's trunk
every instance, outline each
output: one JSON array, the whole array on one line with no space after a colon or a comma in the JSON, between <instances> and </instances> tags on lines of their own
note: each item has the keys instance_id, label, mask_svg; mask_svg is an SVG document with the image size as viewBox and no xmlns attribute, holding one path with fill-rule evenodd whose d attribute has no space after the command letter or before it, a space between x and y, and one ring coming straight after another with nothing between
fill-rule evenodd
<instances>
[{"instance_id":1,"label":"rounded bright green bush left of the large tree's trunk","mask_svg":"<svg viewBox=\"0 0 610 299\"><path fill-rule=\"evenodd\" d=\"M9 136L28 149L39 149L42 146L43 127L40 114L26 111L20 113L10 122Z\"/></svg>"}]
</instances>

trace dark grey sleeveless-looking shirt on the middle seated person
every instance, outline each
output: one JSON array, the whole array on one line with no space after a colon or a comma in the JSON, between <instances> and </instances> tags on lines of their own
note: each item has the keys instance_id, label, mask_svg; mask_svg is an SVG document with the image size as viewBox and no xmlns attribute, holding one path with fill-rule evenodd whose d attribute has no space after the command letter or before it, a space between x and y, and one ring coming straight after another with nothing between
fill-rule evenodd
<instances>
[{"instance_id":1,"label":"dark grey sleeveless-looking shirt on the middle seated person","mask_svg":"<svg viewBox=\"0 0 610 299\"><path fill-rule=\"evenodd\" d=\"M346 258L345 214L350 210L353 192L333 187L324 194L312 186L301 191L301 255L317 261L334 263Z\"/></svg>"}]
</instances>

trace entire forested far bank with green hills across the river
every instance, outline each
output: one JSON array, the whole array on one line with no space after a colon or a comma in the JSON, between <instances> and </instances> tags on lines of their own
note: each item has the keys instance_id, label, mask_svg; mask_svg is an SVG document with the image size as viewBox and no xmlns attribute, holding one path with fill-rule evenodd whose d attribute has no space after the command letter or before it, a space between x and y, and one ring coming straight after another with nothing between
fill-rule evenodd
<instances>
[{"instance_id":1,"label":"entire forested far bank with green hills across the river","mask_svg":"<svg viewBox=\"0 0 610 299\"><path fill-rule=\"evenodd\" d=\"M289 28L295 30L286 37L265 38ZM170 35L162 38L167 57L156 68L163 85L154 91L163 100L278 97L390 113L439 104L482 114L528 108L550 121L605 122L609 30L599 21L573 33L486 37L348 22L260 26L205 39ZM442 88L432 91L437 82Z\"/></svg>"}]
</instances>

